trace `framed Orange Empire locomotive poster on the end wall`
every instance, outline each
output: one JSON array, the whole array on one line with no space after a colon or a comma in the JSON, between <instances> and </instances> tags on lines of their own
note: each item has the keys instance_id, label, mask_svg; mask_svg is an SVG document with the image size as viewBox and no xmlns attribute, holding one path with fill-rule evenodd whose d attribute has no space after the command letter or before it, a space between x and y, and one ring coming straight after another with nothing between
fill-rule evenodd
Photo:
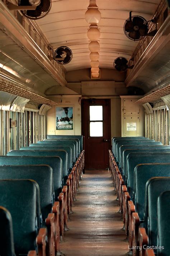
<instances>
[{"instance_id":1,"label":"framed Orange Empire locomotive poster on the end wall","mask_svg":"<svg viewBox=\"0 0 170 256\"><path fill-rule=\"evenodd\" d=\"M56 130L73 130L73 107L56 107Z\"/></svg>"}]
</instances>

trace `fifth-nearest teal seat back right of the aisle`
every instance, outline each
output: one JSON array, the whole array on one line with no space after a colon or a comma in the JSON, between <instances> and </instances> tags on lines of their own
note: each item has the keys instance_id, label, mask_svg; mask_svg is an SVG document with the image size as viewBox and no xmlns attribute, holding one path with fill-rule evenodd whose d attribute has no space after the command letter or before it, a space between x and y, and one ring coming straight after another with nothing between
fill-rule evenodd
<instances>
[{"instance_id":1,"label":"fifth-nearest teal seat back right of the aisle","mask_svg":"<svg viewBox=\"0 0 170 256\"><path fill-rule=\"evenodd\" d=\"M170 151L170 146L164 146L164 145L152 145L152 146L134 146L134 145L127 145L127 146L121 146L121 148L123 147L123 154L122 154L122 175L123 175L123 179L124 181L126 180L126 169L127 169L127 155L130 153L147 153L148 150L151 153L167 153Z\"/></svg>"}]
</instances>

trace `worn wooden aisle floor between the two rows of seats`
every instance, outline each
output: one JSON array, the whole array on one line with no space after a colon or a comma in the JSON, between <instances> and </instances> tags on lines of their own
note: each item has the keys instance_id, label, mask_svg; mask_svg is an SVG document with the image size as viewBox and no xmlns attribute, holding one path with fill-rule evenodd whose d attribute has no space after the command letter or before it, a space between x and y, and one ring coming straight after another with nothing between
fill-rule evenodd
<instances>
[{"instance_id":1,"label":"worn wooden aisle floor between the two rows of seats","mask_svg":"<svg viewBox=\"0 0 170 256\"><path fill-rule=\"evenodd\" d=\"M128 243L110 171L85 171L76 199L61 252L66 256L125 255Z\"/></svg>"}]
</instances>

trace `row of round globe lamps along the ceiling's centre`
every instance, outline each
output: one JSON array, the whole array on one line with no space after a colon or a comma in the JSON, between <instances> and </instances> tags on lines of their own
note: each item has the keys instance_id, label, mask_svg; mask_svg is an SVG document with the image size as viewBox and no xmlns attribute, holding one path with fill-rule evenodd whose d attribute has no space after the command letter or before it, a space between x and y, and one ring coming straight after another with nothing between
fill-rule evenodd
<instances>
[{"instance_id":1,"label":"row of round globe lamps along the ceiling's centre","mask_svg":"<svg viewBox=\"0 0 170 256\"><path fill-rule=\"evenodd\" d=\"M91 59L91 75L93 78L99 77L99 50L100 44L98 42L100 37L100 30L98 29L97 23L101 19L101 13L98 10L96 5L96 0L90 0L88 10L85 13L85 19L90 23L90 28L87 32L87 36L90 40L89 50L90 50L90 59Z\"/></svg>"}]
</instances>

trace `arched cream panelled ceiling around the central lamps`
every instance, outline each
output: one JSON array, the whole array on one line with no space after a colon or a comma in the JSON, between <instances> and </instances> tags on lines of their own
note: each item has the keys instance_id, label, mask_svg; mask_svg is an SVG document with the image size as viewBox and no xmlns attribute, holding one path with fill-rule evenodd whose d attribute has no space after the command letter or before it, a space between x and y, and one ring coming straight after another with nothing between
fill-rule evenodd
<instances>
[{"instance_id":1,"label":"arched cream panelled ceiling around the central lamps","mask_svg":"<svg viewBox=\"0 0 170 256\"><path fill-rule=\"evenodd\" d=\"M96 0L101 12L98 23L100 29L100 68L113 68L117 57L130 59L138 41L124 35L123 25L132 15L150 20L160 0ZM89 68L89 23L85 12L89 0L52 0L52 8L46 17L37 20L41 30L54 49L68 46L73 53L70 63L65 65L67 71Z\"/></svg>"}]
</instances>

